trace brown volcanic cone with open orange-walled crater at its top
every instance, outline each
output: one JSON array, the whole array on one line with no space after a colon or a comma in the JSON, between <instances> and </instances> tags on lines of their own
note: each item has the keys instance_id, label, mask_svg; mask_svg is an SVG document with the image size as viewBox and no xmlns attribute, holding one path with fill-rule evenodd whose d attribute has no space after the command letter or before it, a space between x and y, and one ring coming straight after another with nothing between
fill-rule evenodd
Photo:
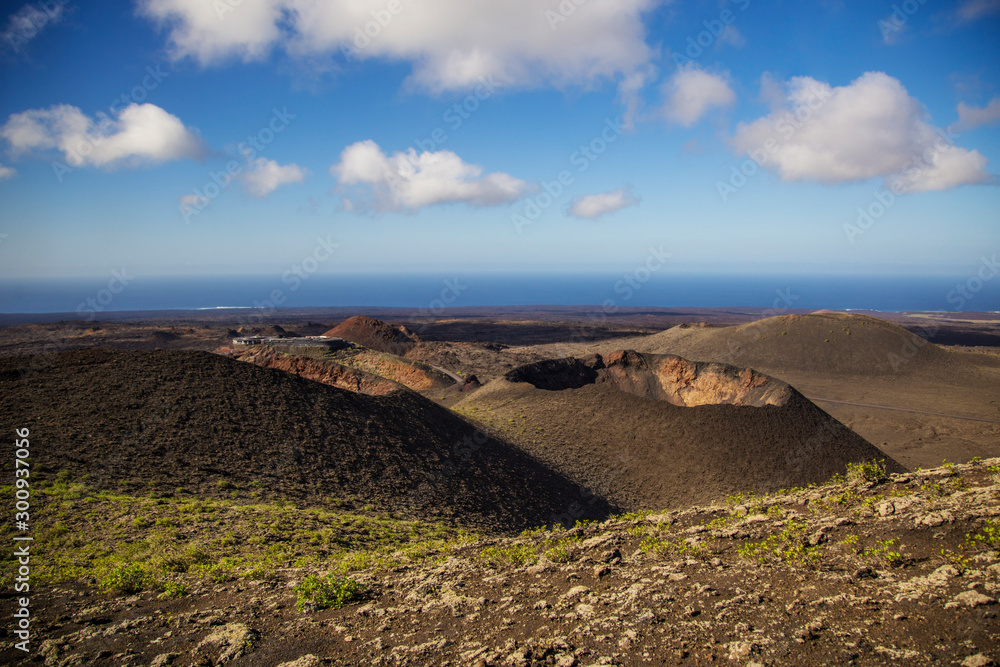
<instances>
[{"instance_id":1,"label":"brown volcanic cone with open orange-walled crater at its top","mask_svg":"<svg viewBox=\"0 0 1000 667\"><path fill-rule=\"evenodd\" d=\"M784 382L678 357L532 364L456 409L630 509L822 482L848 462L886 458L902 470Z\"/></svg>"}]
</instances>

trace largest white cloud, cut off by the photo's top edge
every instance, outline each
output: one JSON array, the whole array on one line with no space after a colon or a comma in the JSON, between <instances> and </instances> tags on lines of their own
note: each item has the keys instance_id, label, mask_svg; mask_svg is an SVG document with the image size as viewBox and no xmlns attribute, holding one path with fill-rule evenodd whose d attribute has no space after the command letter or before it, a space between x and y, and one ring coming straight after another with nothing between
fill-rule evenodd
<instances>
[{"instance_id":1,"label":"largest white cloud, cut off by the photo's top edge","mask_svg":"<svg viewBox=\"0 0 1000 667\"><path fill-rule=\"evenodd\" d=\"M651 62L643 15L666 0L141 0L168 31L175 58L202 65L344 54L412 64L411 83L434 91L492 76L506 85L573 85L625 75ZM572 12L560 6L572 8Z\"/></svg>"}]
</instances>

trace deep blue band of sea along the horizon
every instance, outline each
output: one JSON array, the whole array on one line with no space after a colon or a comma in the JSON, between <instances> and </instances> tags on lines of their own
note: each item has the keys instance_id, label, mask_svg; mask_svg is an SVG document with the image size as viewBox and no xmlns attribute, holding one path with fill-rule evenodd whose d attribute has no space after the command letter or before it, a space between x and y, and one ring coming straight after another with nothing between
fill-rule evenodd
<instances>
[{"instance_id":1,"label":"deep blue band of sea along the horizon","mask_svg":"<svg viewBox=\"0 0 1000 667\"><path fill-rule=\"evenodd\" d=\"M645 282L641 278L647 278ZM964 286L965 294L958 289ZM280 303L276 303L280 301ZM817 275L379 275L142 277L0 281L0 313L80 313L280 307L447 306L830 308L997 311L1000 277Z\"/></svg>"}]
</instances>

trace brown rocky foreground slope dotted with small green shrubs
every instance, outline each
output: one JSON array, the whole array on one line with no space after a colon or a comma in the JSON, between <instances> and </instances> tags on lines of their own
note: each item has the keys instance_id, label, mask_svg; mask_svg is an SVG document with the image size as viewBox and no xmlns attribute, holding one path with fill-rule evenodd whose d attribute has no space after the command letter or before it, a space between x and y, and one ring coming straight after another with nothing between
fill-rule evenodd
<instances>
[{"instance_id":1,"label":"brown rocky foreground slope dotted with small green shrubs","mask_svg":"<svg viewBox=\"0 0 1000 667\"><path fill-rule=\"evenodd\" d=\"M304 569L176 599L62 585L36 597L33 653L53 666L982 667L1000 660L998 549L1000 459L866 466L368 563L341 572L358 584L338 589L342 608L320 608L336 601L302 583L325 572Z\"/></svg>"}]
</instances>

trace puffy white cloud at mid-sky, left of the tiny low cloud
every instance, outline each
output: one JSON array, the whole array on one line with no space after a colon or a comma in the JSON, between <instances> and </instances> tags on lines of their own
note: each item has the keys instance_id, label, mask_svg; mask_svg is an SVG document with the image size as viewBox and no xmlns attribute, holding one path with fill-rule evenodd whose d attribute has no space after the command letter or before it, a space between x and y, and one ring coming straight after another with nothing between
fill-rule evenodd
<instances>
[{"instance_id":1,"label":"puffy white cloud at mid-sky, left of the tiny low cloud","mask_svg":"<svg viewBox=\"0 0 1000 667\"><path fill-rule=\"evenodd\" d=\"M416 211L425 206L462 202L499 206L519 199L527 183L509 174L483 175L482 167L463 162L451 151L386 155L374 141L351 144L330 173L343 185L359 185L370 192L377 210ZM345 198L345 208L358 204Z\"/></svg>"}]
</instances>

